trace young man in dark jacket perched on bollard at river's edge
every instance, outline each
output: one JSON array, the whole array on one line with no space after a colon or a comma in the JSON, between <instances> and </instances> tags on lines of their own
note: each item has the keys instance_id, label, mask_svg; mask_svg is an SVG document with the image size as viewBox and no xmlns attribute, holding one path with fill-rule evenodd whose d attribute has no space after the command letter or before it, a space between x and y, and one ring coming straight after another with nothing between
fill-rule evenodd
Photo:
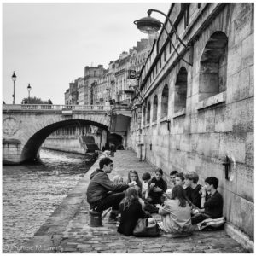
<instances>
[{"instance_id":1,"label":"young man in dark jacket perched on bollard at river's edge","mask_svg":"<svg viewBox=\"0 0 256 256\"><path fill-rule=\"evenodd\" d=\"M123 191L134 186L135 183L113 183L108 177L108 173L113 170L113 161L108 157L102 158L99 166L100 169L96 169L90 175L90 183L86 192L87 201L96 212L102 212L112 207L109 223L114 223L119 213L119 202L125 197ZM109 194L110 191L113 193Z\"/></svg>"}]
</instances>

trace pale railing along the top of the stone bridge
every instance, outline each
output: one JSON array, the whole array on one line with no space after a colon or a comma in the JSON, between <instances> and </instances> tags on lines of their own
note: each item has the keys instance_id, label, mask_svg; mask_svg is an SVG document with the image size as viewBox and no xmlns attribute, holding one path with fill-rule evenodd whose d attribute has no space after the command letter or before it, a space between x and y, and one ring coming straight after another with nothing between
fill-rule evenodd
<instances>
[{"instance_id":1,"label":"pale railing along the top of the stone bridge","mask_svg":"<svg viewBox=\"0 0 256 256\"><path fill-rule=\"evenodd\" d=\"M104 105L53 105L53 104L3 104L3 110L74 110L74 111L110 111L112 106Z\"/></svg>"}]
</instances>

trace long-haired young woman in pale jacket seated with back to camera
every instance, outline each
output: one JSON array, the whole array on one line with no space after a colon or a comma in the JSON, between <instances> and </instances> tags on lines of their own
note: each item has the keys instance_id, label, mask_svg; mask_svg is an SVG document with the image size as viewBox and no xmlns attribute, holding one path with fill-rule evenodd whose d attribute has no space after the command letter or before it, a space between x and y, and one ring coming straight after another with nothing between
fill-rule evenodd
<instances>
[{"instance_id":1,"label":"long-haired young woman in pale jacket seated with back to camera","mask_svg":"<svg viewBox=\"0 0 256 256\"><path fill-rule=\"evenodd\" d=\"M174 186L171 198L167 199L163 206L157 205L159 214L162 216L161 230L174 237L191 235L193 231L191 209L188 201L186 201L183 187L180 185Z\"/></svg>"}]
</instances>

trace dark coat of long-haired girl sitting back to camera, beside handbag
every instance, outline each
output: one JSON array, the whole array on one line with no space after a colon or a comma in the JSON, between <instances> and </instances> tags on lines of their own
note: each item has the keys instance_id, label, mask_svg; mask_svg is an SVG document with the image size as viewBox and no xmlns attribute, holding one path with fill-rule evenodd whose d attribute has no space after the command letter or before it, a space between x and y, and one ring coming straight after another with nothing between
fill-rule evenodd
<instances>
[{"instance_id":1,"label":"dark coat of long-haired girl sitting back to camera, beside handbag","mask_svg":"<svg viewBox=\"0 0 256 256\"><path fill-rule=\"evenodd\" d=\"M139 218L146 218L147 215L143 212L142 205L135 201L129 207L125 207L124 203L119 204L119 212L121 213L121 220L118 227L118 232L125 236L132 236L133 230Z\"/></svg>"}]
</instances>

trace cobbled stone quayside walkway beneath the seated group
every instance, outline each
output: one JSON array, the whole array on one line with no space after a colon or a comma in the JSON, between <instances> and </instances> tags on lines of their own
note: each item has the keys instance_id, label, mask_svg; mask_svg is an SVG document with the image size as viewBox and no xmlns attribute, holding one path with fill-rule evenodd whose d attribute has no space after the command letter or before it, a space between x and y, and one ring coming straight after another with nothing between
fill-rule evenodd
<instances>
[{"instance_id":1,"label":"cobbled stone quayside walkway beneath the seated group","mask_svg":"<svg viewBox=\"0 0 256 256\"><path fill-rule=\"evenodd\" d=\"M115 224L108 224L108 216L102 219L102 227L90 227L90 207L85 192L90 173L97 166L98 161L21 253L46 253L49 250L50 253L247 253L224 230L196 231L193 236L184 238L127 237L117 232ZM117 174L127 177L131 169L137 170L140 176L143 172L154 171L146 162L137 160L133 152L116 152L110 177Z\"/></svg>"}]
</instances>

